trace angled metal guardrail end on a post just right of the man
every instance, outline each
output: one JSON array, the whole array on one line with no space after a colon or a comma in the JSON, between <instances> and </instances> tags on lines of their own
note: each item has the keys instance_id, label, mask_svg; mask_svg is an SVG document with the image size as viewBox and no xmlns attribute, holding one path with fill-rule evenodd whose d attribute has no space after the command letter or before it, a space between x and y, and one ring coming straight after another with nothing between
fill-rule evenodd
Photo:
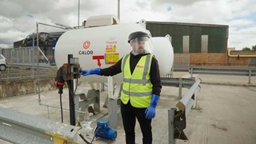
<instances>
[{"instance_id":1,"label":"angled metal guardrail end on a post just right of the man","mask_svg":"<svg viewBox=\"0 0 256 144\"><path fill-rule=\"evenodd\" d=\"M174 144L175 139L187 139L183 132L186 128L186 116L189 114L191 108L197 108L194 103L197 102L196 98L200 89L200 82L201 79L195 80L190 90L176 104L178 111L177 108L170 108L168 110L169 144Z\"/></svg>"}]
</instances>

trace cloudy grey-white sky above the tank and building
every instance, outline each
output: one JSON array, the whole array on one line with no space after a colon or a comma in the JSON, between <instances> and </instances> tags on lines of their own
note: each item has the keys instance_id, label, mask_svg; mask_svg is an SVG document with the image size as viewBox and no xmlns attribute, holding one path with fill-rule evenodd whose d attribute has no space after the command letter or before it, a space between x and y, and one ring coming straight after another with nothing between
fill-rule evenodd
<instances>
[{"instance_id":1,"label":"cloudy grey-white sky above the tank and building","mask_svg":"<svg viewBox=\"0 0 256 144\"><path fill-rule=\"evenodd\" d=\"M256 44L254 0L120 1L121 23L146 19L229 25L229 47L242 50ZM90 16L117 15L117 6L118 0L80 0L79 23ZM0 0L0 46L6 47L6 43L36 32L36 22L78 26L78 0ZM57 29L41 26L39 30L47 32Z\"/></svg>"}]
</instances>

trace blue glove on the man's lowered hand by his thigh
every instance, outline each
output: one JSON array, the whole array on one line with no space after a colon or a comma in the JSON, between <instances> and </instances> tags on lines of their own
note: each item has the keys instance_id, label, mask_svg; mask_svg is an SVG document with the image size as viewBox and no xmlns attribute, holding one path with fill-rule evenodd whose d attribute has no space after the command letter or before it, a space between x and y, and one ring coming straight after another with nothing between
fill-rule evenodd
<instances>
[{"instance_id":1,"label":"blue glove on the man's lowered hand by his thigh","mask_svg":"<svg viewBox=\"0 0 256 144\"><path fill-rule=\"evenodd\" d=\"M148 106L145 110L146 118L151 119L155 116L155 107L158 105L158 99L160 97L156 94L152 95L150 106Z\"/></svg>"}]
</instances>

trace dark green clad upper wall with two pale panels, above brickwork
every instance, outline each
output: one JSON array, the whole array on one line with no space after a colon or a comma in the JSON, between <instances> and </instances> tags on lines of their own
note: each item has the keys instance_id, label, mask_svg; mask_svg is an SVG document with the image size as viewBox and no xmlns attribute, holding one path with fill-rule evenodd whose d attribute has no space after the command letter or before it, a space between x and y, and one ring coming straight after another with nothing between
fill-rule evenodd
<instances>
[{"instance_id":1,"label":"dark green clad upper wall with two pale panels, above brickwork","mask_svg":"<svg viewBox=\"0 0 256 144\"><path fill-rule=\"evenodd\" d=\"M174 53L224 53L228 26L178 22L146 22L153 37L170 34Z\"/></svg>"}]
</instances>

